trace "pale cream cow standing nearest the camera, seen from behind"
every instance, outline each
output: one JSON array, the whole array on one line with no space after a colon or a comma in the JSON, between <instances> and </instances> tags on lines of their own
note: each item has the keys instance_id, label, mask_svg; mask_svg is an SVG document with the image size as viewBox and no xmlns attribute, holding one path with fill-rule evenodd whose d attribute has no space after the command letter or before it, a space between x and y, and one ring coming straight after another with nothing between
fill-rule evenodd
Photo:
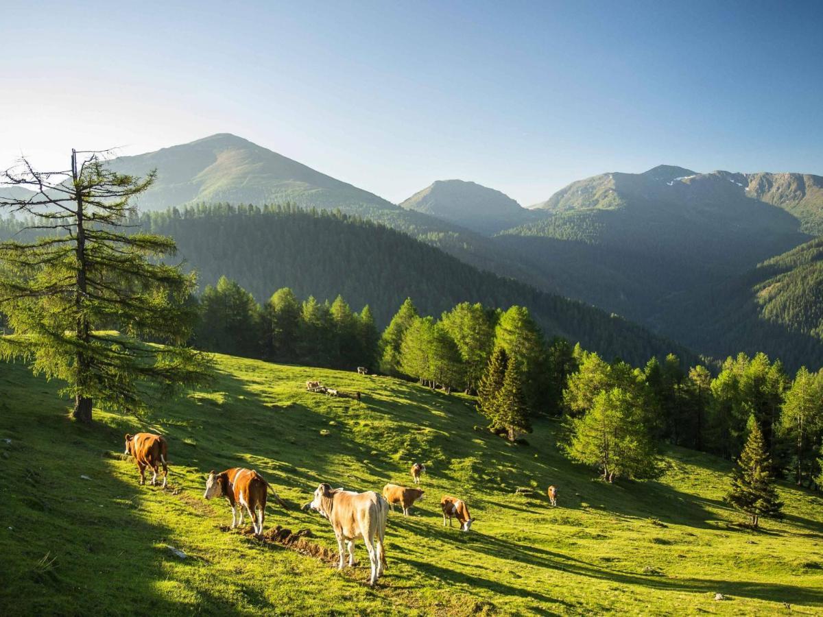
<instances>
[{"instance_id":1,"label":"pale cream cow standing nearest the camera, seen from behind","mask_svg":"<svg viewBox=\"0 0 823 617\"><path fill-rule=\"evenodd\" d=\"M314 491L311 508L332 523L334 536L337 538L337 549L340 550L340 564L337 569L343 569L343 542L346 542L349 550L349 565L353 566L355 540L363 538L371 563L369 584L374 585L386 568L386 500L373 490L355 493L351 490L332 489L331 485L323 483Z\"/></svg>"}]
</instances>

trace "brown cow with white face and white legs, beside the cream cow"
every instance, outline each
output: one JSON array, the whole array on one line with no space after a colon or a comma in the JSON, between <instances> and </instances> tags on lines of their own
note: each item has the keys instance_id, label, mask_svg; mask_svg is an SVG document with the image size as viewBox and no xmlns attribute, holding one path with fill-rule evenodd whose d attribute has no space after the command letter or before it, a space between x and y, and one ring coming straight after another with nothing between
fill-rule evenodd
<instances>
[{"instance_id":1,"label":"brown cow with white face and white legs, beside the cream cow","mask_svg":"<svg viewBox=\"0 0 823 617\"><path fill-rule=\"evenodd\" d=\"M243 525L243 508L246 508L246 512L252 519L254 533L262 536L263 522L266 520L267 490L272 491L277 503L287 508L286 502L280 499L263 476L253 469L243 467L232 467L219 474L213 470L210 471L206 479L206 493L203 497L212 499L222 496L228 500L231 506L232 529ZM256 521L254 520L255 512L257 513Z\"/></svg>"}]
</instances>

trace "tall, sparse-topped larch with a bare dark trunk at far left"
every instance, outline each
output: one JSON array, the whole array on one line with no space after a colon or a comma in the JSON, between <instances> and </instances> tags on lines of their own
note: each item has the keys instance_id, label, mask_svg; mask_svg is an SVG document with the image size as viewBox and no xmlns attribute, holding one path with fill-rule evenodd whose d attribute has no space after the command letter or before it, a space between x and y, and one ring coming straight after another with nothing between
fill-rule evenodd
<instances>
[{"instance_id":1,"label":"tall, sparse-topped larch with a bare dark trunk at far left","mask_svg":"<svg viewBox=\"0 0 823 617\"><path fill-rule=\"evenodd\" d=\"M112 171L102 152L73 150L66 171L40 172L23 159L0 174L0 188L21 194L0 198L0 209L29 216L28 229L43 234L0 244L0 311L13 330L0 337L0 357L65 382L61 393L84 423L95 403L140 408L141 383L174 387L209 373L207 356L185 346L194 276L162 261L174 256L172 239L130 222L130 200L154 179Z\"/></svg>"}]
</instances>

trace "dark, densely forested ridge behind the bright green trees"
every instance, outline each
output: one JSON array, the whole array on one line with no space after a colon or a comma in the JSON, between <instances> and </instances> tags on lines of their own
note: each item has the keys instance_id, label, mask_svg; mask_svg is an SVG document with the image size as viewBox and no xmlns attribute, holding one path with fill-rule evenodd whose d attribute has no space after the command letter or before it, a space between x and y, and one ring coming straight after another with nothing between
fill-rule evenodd
<instances>
[{"instance_id":1,"label":"dark, densely forested ridge behind the bright green trees","mask_svg":"<svg viewBox=\"0 0 823 617\"><path fill-rule=\"evenodd\" d=\"M689 351L625 319L550 295L460 262L396 230L343 214L291 207L200 206L144 216L152 232L172 236L199 272L201 287L226 275L263 302L281 287L295 295L369 304L383 327L411 296L422 314L463 301L529 308L546 336L636 363Z\"/></svg>"}]
</instances>

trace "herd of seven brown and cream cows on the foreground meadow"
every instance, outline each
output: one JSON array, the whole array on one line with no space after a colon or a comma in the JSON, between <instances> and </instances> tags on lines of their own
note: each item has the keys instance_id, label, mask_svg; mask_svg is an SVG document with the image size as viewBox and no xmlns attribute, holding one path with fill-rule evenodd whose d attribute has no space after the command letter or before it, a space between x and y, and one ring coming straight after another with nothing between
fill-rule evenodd
<instances>
[{"instance_id":1,"label":"herd of seven brown and cream cows on the foreground meadow","mask_svg":"<svg viewBox=\"0 0 823 617\"><path fill-rule=\"evenodd\" d=\"M140 471L140 484L146 484L146 469L151 469L154 476L151 485L157 484L157 475L160 468L163 470L163 488L165 489L169 477L168 444L160 435L138 433L126 435L126 454L131 455L137 462ZM412 480L414 484L421 483L421 474L425 466L421 463L412 465ZM216 473L210 471L206 479L205 499L225 497L231 507L231 527L243 525L244 513L248 513L252 520L254 533L263 535L263 523L266 519L267 495L271 492L277 503L288 508L286 502L272 489L263 476L253 469L233 467ZM356 493L342 488L332 489L331 485L323 483L314 491L314 499L306 504L325 517L332 524L334 536L337 538L337 549L340 554L338 568L344 564L344 543L349 554L349 565L354 565L354 543L357 538L365 542L369 553L371 574L369 584L374 585L382 576L386 566L384 536L388 509L394 510L395 505L402 508L403 515L408 516L412 505L423 499L424 491L418 488L409 488L400 485L388 484L384 486L383 494L374 491ZM557 505L557 489L550 486L548 489L551 505ZM440 499L440 509L443 511L443 525L456 518L461 531L469 531L474 519L468 512L468 506L463 499L444 495Z\"/></svg>"}]
</instances>

